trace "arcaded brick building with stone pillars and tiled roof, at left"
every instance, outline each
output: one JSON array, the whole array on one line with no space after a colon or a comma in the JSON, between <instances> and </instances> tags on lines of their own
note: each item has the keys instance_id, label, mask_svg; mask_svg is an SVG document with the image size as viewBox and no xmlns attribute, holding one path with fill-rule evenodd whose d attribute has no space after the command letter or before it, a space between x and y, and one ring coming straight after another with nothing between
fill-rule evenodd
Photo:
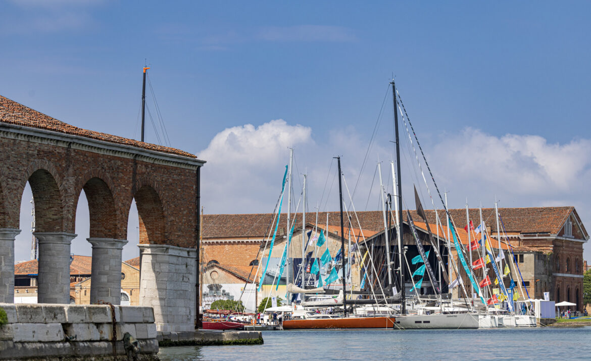
<instances>
[{"instance_id":1,"label":"arcaded brick building with stone pillars and tiled roof, at left","mask_svg":"<svg viewBox=\"0 0 591 361\"><path fill-rule=\"evenodd\" d=\"M159 331L193 330L203 164L188 152L80 129L0 96L0 302L14 301L14 238L27 182L39 240L39 301L69 302L70 242L84 190L93 246L90 301L120 302L121 252L135 200L139 303L154 307Z\"/></svg>"}]
</instances>

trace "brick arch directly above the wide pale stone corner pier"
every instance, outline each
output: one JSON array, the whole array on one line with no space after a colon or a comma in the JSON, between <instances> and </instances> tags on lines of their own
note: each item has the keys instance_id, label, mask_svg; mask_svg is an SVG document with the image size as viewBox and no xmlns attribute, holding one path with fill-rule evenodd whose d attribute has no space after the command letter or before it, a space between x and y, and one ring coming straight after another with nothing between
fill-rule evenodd
<instances>
[{"instance_id":1,"label":"brick arch directly above the wide pale stone corner pier","mask_svg":"<svg viewBox=\"0 0 591 361\"><path fill-rule=\"evenodd\" d=\"M166 237L165 206L157 183L141 178L134 187L139 218L139 243L164 244ZM129 200L131 206L131 200ZM128 206L129 209L129 206Z\"/></svg>"}]
</instances>

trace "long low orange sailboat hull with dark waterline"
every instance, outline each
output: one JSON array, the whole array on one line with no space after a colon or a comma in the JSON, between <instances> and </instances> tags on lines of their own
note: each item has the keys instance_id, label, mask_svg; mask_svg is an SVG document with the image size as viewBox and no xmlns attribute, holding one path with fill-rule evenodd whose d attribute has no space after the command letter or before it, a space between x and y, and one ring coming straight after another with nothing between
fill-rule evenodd
<instances>
[{"instance_id":1,"label":"long low orange sailboat hull with dark waterline","mask_svg":"<svg viewBox=\"0 0 591 361\"><path fill-rule=\"evenodd\" d=\"M392 329L394 317L346 317L307 320L285 320L284 330L310 329Z\"/></svg>"}]
</instances>

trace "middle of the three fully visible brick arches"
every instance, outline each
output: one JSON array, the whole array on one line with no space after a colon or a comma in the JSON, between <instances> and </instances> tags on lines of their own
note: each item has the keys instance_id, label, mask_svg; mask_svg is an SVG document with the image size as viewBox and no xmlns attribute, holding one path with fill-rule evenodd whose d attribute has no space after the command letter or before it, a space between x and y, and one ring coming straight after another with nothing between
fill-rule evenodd
<instances>
[{"instance_id":1,"label":"middle of the three fully visible brick arches","mask_svg":"<svg viewBox=\"0 0 591 361\"><path fill-rule=\"evenodd\" d=\"M74 216L80 193L86 194L90 214L90 238L117 238L120 212L116 204L116 188L102 170L89 170L80 178L74 199Z\"/></svg>"}]
</instances>

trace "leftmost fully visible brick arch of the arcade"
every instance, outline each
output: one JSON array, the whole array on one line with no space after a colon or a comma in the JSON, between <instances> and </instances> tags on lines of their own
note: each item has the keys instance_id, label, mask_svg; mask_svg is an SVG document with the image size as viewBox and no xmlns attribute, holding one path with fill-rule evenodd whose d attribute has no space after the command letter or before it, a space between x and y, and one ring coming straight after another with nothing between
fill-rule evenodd
<instances>
[{"instance_id":1,"label":"leftmost fully visible brick arch of the arcade","mask_svg":"<svg viewBox=\"0 0 591 361\"><path fill-rule=\"evenodd\" d=\"M56 167L51 162L37 160L31 163L21 178L18 194L22 198L25 184L29 182L35 201L35 230L37 232L63 232L64 190ZM20 217L17 217L19 219Z\"/></svg>"}]
</instances>

